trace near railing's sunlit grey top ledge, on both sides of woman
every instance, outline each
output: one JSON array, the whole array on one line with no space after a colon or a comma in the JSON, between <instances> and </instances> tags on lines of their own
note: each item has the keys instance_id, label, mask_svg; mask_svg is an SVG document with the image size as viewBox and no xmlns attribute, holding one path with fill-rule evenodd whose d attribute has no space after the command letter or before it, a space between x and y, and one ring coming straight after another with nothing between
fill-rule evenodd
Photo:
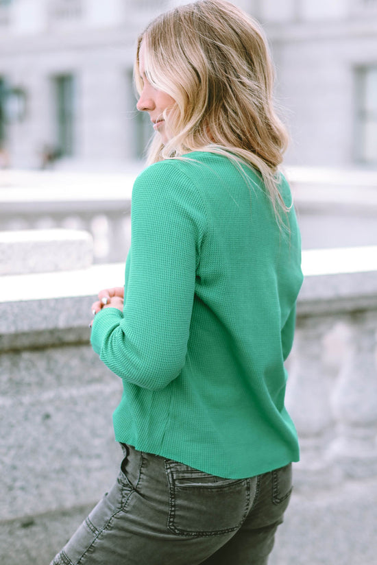
<instances>
[{"instance_id":1,"label":"near railing's sunlit grey top ledge, on both sides of woman","mask_svg":"<svg viewBox=\"0 0 377 565\"><path fill-rule=\"evenodd\" d=\"M377 308L377 247L303 251L302 268L297 315ZM43 339L73 343L79 334L82 341L89 336L90 305L99 290L123 283L124 263L3 276L0 350L38 346Z\"/></svg>"}]
</instances>

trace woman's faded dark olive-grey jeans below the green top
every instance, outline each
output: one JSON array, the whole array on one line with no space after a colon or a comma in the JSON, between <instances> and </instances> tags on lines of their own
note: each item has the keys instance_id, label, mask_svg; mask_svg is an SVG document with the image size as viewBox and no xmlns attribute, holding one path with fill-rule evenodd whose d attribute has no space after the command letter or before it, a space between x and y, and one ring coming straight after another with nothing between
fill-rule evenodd
<instances>
[{"instance_id":1,"label":"woman's faded dark olive-grey jeans below the green top","mask_svg":"<svg viewBox=\"0 0 377 565\"><path fill-rule=\"evenodd\" d=\"M223 479L122 445L116 483L51 565L265 565L291 465Z\"/></svg>"}]
</instances>

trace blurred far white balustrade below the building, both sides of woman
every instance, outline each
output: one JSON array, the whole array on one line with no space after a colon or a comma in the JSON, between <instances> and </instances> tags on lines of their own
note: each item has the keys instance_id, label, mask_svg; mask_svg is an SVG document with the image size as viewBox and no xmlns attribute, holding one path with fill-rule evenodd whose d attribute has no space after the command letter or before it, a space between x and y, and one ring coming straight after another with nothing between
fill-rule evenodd
<instances>
[{"instance_id":1,"label":"blurred far white balustrade below the building, both sides of woman","mask_svg":"<svg viewBox=\"0 0 377 565\"><path fill-rule=\"evenodd\" d=\"M0 230L73 228L91 233L95 263L125 261L132 185L127 173L2 171ZM288 169L306 249L377 245L377 173ZM318 229L318 224L321 228Z\"/></svg>"}]
</instances>

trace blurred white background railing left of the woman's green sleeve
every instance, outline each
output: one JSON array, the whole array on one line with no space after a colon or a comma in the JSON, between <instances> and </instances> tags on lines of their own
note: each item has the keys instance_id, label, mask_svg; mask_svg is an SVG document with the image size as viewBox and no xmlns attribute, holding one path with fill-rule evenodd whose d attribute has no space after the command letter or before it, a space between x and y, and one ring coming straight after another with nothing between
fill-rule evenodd
<instances>
[{"instance_id":1,"label":"blurred white background railing left of the woman's green sleeve","mask_svg":"<svg viewBox=\"0 0 377 565\"><path fill-rule=\"evenodd\" d=\"M135 176L3 171L0 230L86 230L95 263L125 261Z\"/></svg>"}]
</instances>

